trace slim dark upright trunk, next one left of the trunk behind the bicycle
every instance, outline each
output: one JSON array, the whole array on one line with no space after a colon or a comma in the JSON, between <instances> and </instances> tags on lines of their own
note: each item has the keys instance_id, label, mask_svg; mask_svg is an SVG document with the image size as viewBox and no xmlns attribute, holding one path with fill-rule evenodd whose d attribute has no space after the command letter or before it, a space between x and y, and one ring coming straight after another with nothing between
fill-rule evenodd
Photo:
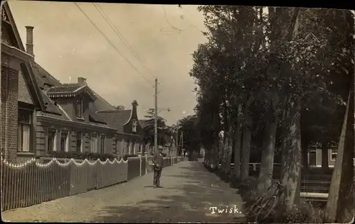
<instances>
[{"instance_id":1,"label":"slim dark upright trunk, next one left of the trunk behind the bicycle","mask_svg":"<svg viewBox=\"0 0 355 224\"><path fill-rule=\"evenodd\" d=\"M246 181L249 177L250 145L251 130L249 127L244 127L243 146L241 147L241 181Z\"/></svg>"}]
</instances>

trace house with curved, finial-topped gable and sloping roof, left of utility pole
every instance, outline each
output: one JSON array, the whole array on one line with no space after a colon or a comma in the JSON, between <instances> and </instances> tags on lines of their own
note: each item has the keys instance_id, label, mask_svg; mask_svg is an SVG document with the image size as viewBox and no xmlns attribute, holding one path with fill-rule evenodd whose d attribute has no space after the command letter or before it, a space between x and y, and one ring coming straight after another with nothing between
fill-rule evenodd
<instances>
[{"instance_id":1,"label":"house with curved, finial-topped gable and sloping roof, left of utility pole","mask_svg":"<svg viewBox=\"0 0 355 224\"><path fill-rule=\"evenodd\" d=\"M140 155L143 152L143 132L138 123L137 106L137 101L133 101L130 110L97 111L108 125L116 128L116 148L119 155Z\"/></svg>"}]
</instances>

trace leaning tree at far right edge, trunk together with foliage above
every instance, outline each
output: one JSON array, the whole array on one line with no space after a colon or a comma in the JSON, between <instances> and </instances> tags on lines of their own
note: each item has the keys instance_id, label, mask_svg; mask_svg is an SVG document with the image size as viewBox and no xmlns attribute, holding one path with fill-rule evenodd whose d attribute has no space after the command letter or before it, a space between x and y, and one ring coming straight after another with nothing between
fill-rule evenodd
<instances>
[{"instance_id":1,"label":"leaning tree at far right edge, trunk together with foliage above","mask_svg":"<svg viewBox=\"0 0 355 224\"><path fill-rule=\"evenodd\" d=\"M354 217L354 14L351 11L337 11L339 36L337 64L350 82L346 86L349 96L339 138L337 159L334 165L332 184L329 189L326 213L330 222L349 222ZM340 38L339 38L340 37Z\"/></svg>"}]
</instances>

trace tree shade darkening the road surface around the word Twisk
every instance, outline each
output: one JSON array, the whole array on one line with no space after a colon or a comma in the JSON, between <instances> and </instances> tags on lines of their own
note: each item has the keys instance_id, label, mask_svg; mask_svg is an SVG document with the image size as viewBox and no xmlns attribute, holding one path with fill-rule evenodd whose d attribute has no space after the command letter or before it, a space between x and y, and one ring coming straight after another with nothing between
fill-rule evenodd
<instances>
[{"instance_id":1,"label":"tree shade darkening the road surface around the word Twisk","mask_svg":"<svg viewBox=\"0 0 355 224\"><path fill-rule=\"evenodd\" d=\"M237 198L226 189L214 174L206 172L199 162L187 162L179 174L163 174L163 189L154 199L144 199L132 206L107 206L98 211L93 221L104 222L232 222L241 221L240 214L211 214L209 207L229 206ZM177 184L169 184L174 181ZM148 188L151 186L145 186ZM145 191L143 188L142 191ZM147 189L146 189L147 191ZM229 191L233 191L229 189ZM134 194L134 192L132 192ZM234 194L234 195L233 195ZM235 204L241 203L236 201ZM233 203L234 204L234 203Z\"/></svg>"}]
</instances>

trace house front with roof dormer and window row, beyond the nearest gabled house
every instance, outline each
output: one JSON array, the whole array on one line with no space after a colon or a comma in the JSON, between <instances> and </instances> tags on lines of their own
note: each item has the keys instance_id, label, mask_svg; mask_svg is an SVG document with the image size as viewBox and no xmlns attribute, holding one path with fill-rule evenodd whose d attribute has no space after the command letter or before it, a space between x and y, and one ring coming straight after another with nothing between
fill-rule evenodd
<instances>
[{"instance_id":1,"label":"house front with roof dormer and window row, beyond the nearest gabled house","mask_svg":"<svg viewBox=\"0 0 355 224\"><path fill-rule=\"evenodd\" d=\"M85 79L78 78L75 84L50 86L45 94L65 116L38 113L40 155L48 151L115 154L116 130L92 111L91 105L97 97Z\"/></svg>"}]
</instances>

